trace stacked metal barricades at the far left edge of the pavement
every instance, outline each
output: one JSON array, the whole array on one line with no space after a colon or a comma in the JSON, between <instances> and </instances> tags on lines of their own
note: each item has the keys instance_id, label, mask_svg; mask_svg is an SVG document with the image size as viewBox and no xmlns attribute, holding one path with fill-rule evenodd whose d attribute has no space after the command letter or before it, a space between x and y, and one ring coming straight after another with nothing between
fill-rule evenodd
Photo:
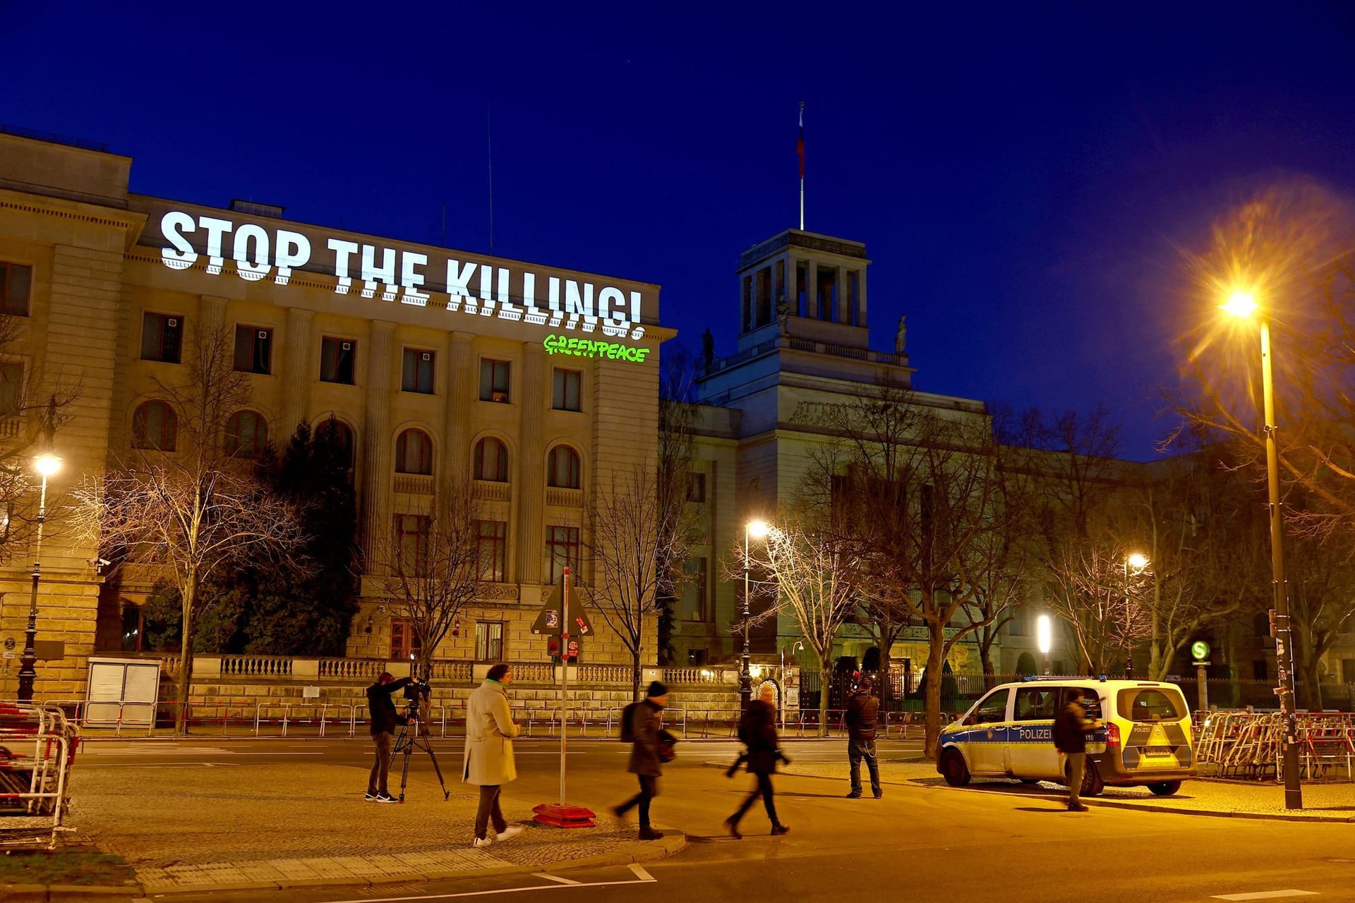
<instances>
[{"instance_id":1,"label":"stacked metal barricades at the far left edge of the pavement","mask_svg":"<svg viewBox=\"0 0 1355 903\"><path fill-rule=\"evenodd\" d=\"M0 703L0 845L54 849L70 806L79 730L56 705Z\"/></svg>"}]
</instances>

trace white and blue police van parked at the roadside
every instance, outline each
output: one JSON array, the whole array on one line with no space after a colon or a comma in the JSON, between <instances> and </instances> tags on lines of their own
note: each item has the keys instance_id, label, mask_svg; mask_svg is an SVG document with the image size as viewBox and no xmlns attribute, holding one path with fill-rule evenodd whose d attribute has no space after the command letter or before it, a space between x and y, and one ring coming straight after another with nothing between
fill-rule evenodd
<instances>
[{"instance_id":1,"label":"white and blue police van parked at the roadside","mask_svg":"<svg viewBox=\"0 0 1355 903\"><path fill-rule=\"evenodd\" d=\"M1103 722L1087 736L1084 796L1096 796L1107 784L1146 785L1171 796L1182 780L1195 777L1190 709L1179 686L1089 677L995 688L942 730L936 770L951 787L970 777L1066 784L1068 757L1054 749L1053 728L1069 688L1080 690L1087 716Z\"/></svg>"}]
</instances>

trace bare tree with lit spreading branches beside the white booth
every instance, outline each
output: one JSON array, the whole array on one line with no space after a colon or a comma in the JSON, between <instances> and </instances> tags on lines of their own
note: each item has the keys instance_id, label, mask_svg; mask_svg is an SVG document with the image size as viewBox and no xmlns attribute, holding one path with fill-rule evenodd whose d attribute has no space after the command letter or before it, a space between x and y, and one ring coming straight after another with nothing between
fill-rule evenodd
<instances>
[{"instance_id":1,"label":"bare tree with lit spreading branches beside the white booth","mask_svg":"<svg viewBox=\"0 0 1355 903\"><path fill-rule=\"evenodd\" d=\"M183 382L157 380L179 418L180 451L140 449L111 468L102 485L77 490L81 517L110 559L163 565L179 589L183 628L175 728L180 732L194 630L213 601L205 598L205 582L232 560L286 558L302 539L293 508L267 491L249 460L225 452L226 421L249 399L244 374L232 370L225 326L218 322L192 332L187 352ZM232 444L238 445L238 437Z\"/></svg>"}]
</instances>

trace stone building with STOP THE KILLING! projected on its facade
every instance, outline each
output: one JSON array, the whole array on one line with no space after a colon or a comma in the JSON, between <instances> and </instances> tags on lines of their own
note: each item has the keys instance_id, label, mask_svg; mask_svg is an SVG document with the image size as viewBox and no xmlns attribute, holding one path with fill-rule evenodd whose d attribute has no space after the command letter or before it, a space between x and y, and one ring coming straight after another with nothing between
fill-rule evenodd
<instances>
[{"instance_id":1,"label":"stone building with STOP THE KILLING! projected on its facade","mask_svg":"<svg viewBox=\"0 0 1355 903\"><path fill-rule=\"evenodd\" d=\"M672 334L659 287L297 223L282 207L134 194L130 169L102 149L0 134L4 310L20 326L7 363L80 383L53 439L65 459L53 494L134 447L173 454L179 412L157 379L173 382L194 330L221 324L251 393L230 451L337 418L369 544L416 533L449 474L473 478L489 590L436 655L545 661L530 624L579 559L584 494L654 455L657 348ZM93 540L58 521L42 547L38 636L65 646L39 662L38 699L79 697L92 651L136 647L150 579L127 569L107 581ZM28 559L11 548L0 570L0 636L18 648ZM350 655L402 657L408 631L371 581L363 592ZM587 659L629 661L606 630ZM0 697L18 669L4 661Z\"/></svg>"}]
</instances>

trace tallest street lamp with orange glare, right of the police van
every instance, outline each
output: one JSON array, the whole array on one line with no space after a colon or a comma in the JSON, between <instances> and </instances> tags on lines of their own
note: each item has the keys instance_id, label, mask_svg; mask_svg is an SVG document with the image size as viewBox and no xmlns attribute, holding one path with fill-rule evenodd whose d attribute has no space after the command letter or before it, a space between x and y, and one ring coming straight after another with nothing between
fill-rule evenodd
<instances>
[{"instance_id":1,"label":"tallest street lamp with orange glare, right of the police van","mask_svg":"<svg viewBox=\"0 0 1355 903\"><path fill-rule=\"evenodd\" d=\"M1220 309L1249 320L1257 310L1256 298L1245 290L1233 291ZM1279 510L1279 451L1275 447L1275 379L1271 372L1270 318L1262 313L1262 405L1266 431L1266 486L1270 504L1271 583L1275 594L1275 669L1279 686L1279 711L1285 719L1280 750L1285 761L1285 808L1304 808L1304 789L1298 783L1298 726L1294 718L1294 667L1289 620L1289 588L1285 583L1285 529Z\"/></svg>"}]
</instances>

